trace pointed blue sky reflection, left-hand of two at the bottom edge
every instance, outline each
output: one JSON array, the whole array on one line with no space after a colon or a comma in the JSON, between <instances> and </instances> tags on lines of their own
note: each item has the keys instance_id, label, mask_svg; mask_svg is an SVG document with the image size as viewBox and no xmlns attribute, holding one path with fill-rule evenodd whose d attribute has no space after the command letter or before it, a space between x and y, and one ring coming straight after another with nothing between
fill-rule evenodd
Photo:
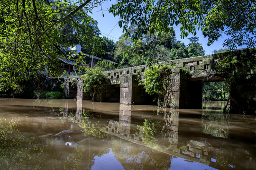
<instances>
[{"instance_id":1,"label":"pointed blue sky reflection, left-hand of two at the bottom edge","mask_svg":"<svg viewBox=\"0 0 256 170\"><path fill-rule=\"evenodd\" d=\"M95 163L91 170L124 170L122 164L117 161L115 154L110 149L110 152L102 156L95 156Z\"/></svg>"}]
</instances>

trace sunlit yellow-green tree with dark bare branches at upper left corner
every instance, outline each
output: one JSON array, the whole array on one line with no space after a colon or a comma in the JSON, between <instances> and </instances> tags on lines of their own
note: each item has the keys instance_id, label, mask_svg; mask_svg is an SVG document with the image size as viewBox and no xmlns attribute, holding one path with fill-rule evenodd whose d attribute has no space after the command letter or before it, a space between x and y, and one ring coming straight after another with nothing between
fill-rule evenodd
<instances>
[{"instance_id":1,"label":"sunlit yellow-green tree with dark bare branches at upper left corner","mask_svg":"<svg viewBox=\"0 0 256 170\"><path fill-rule=\"evenodd\" d=\"M37 1L2 0L0 3L0 91L21 92L22 81L39 80L42 71L58 75L58 58L66 58L65 47L73 42L63 41L62 26L69 19L77 28L73 14L82 8L87 12L98 0ZM82 11L80 11L82 13ZM91 43L92 44L92 43ZM35 82L36 83L36 82Z\"/></svg>"}]
</instances>

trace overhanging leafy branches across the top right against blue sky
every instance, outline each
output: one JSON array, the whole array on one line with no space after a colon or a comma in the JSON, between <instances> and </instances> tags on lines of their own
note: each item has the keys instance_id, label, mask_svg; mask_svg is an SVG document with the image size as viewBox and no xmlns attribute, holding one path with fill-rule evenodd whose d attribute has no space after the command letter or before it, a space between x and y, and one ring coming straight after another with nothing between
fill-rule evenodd
<instances>
[{"instance_id":1,"label":"overhanging leafy branches across the top right against blue sky","mask_svg":"<svg viewBox=\"0 0 256 170\"><path fill-rule=\"evenodd\" d=\"M134 39L181 25L182 37L200 29L208 45L222 34L230 36L224 42L229 49L256 45L255 0L117 0L110 12L120 16L119 26L128 35L128 26L137 25Z\"/></svg>"}]
</instances>

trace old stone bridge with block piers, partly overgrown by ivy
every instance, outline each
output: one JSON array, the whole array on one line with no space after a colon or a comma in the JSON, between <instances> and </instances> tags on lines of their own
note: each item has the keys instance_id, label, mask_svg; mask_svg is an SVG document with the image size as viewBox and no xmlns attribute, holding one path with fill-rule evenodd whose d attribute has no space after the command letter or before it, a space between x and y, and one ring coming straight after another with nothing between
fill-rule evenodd
<instances>
[{"instance_id":1,"label":"old stone bridge with block piers, partly overgrown by ivy","mask_svg":"<svg viewBox=\"0 0 256 170\"><path fill-rule=\"evenodd\" d=\"M231 106L242 106L245 110L255 112L256 108L256 48L232 51L238 60L237 67L234 70L243 75L238 84L231 87ZM186 59L175 59L160 64L173 66L171 77L170 99L178 108L201 109L202 103L202 85L204 82L225 81L223 75L216 74L217 65L223 56L229 52L212 54L206 56L192 57ZM189 70L189 75L183 69ZM152 104L153 97L149 96L143 87L137 84L137 76L144 80L144 72L147 66L137 66L105 71L104 73L110 79L111 88L106 90L101 96L101 102L120 102L121 104ZM243 74L241 74L241 72ZM77 88L72 88L71 79L77 81ZM75 98L77 100L90 100L88 93L83 93L81 76L65 78L66 98ZM239 83L245 86L241 91L237 87ZM232 107L231 107L232 108Z\"/></svg>"}]
</instances>

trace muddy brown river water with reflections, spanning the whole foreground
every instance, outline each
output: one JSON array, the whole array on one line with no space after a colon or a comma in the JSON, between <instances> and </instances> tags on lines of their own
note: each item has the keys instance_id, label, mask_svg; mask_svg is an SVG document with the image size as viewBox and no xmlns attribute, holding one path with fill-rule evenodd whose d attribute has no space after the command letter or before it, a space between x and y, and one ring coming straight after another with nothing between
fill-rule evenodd
<instances>
[{"instance_id":1,"label":"muddy brown river water with reflections, spanning the whole foreground","mask_svg":"<svg viewBox=\"0 0 256 170\"><path fill-rule=\"evenodd\" d=\"M255 170L256 118L74 100L0 99L0 170Z\"/></svg>"}]
</instances>

